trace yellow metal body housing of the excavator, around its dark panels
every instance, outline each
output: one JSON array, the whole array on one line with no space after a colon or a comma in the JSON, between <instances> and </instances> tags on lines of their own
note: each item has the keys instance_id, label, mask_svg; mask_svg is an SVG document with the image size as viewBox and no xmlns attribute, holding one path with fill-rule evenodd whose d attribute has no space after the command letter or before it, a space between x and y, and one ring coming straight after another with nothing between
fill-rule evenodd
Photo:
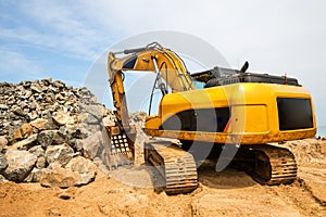
<instances>
[{"instance_id":1,"label":"yellow metal body housing of the excavator, around its dark panels","mask_svg":"<svg viewBox=\"0 0 326 217\"><path fill-rule=\"evenodd\" d=\"M313 107L313 128L279 130L277 98L311 99L311 95L303 87L250 82L166 94L161 101L159 117L155 122L146 123L149 129L146 131L151 136L242 144L313 137L316 131ZM162 123L174 114L214 107L231 110L230 126L226 132L159 130Z\"/></svg>"}]
</instances>

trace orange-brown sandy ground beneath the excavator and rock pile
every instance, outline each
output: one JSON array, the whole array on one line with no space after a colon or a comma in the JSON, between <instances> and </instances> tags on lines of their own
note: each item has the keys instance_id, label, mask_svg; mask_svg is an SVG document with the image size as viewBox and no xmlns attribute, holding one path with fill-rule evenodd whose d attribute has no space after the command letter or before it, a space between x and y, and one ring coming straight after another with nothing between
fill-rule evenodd
<instances>
[{"instance_id":1,"label":"orange-brown sandy ground beneath the excavator and rock pile","mask_svg":"<svg viewBox=\"0 0 326 217\"><path fill-rule=\"evenodd\" d=\"M297 157L298 180L288 186L261 186L231 168L216 173L211 161L198 170L199 188L186 195L154 191L153 183L160 180L146 166L120 168L111 177L98 176L82 188L0 182L0 216L326 217L325 154L314 153L312 157L310 150L306 161L300 150L292 148L301 155Z\"/></svg>"}]
</instances>

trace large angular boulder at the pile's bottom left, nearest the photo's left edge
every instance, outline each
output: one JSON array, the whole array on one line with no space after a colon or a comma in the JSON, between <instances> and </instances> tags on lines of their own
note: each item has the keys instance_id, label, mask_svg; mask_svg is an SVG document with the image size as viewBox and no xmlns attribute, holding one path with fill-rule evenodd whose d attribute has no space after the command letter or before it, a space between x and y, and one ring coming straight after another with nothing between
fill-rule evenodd
<instances>
[{"instance_id":1,"label":"large angular boulder at the pile's bottom left, nearest the photo's left edge","mask_svg":"<svg viewBox=\"0 0 326 217\"><path fill-rule=\"evenodd\" d=\"M27 151L8 150L5 153L8 167L2 175L11 181L23 181L34 168L37 156Z\"/></svg>"}]
</instances>

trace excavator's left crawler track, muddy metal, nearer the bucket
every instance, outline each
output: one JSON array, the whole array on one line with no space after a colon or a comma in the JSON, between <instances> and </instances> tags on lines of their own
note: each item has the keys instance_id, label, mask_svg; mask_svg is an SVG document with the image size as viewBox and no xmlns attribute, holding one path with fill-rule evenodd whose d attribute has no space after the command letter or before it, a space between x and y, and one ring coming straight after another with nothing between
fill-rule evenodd
<instances>
[{"instance_id":1,"label":"excavator's left crawler track, muddy metal, nearer the bucket","mask_svg":"<svg viewBox=\"0 0 326 217\"><path fill-rule=\"evenodd\" d=\"M165 179L167 194L189 193L198 187L197 166L191 154L171 142L146 143L145 159Z\"/></svg>"}]
</instances>

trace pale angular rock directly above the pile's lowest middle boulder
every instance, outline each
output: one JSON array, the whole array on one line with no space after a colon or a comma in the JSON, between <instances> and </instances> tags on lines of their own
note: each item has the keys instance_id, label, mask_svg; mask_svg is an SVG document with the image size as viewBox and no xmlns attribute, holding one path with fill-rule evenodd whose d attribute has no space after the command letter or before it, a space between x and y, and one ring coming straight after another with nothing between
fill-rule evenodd
<instances>
[{"instance_id":1,"label":"pale angular rock directly above the pile's lowest middle boulder","mask_svg":"<svg viewBox=\"0 0 326 217\"><path fill-rule=\"evenodd\" d=\"M49 164L58 163L62 166L66 165L74 155L74 150L67 144L50 145L46 151L46 158Z\"/></svg>"}]
</instances>

